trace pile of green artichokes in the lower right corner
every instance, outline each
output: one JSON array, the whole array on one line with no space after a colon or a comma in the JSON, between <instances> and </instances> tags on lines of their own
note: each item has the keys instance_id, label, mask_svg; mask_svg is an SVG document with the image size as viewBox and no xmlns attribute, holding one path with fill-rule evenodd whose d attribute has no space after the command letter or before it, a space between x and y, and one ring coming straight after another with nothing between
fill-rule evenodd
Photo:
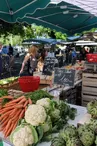
<instances>
[{"instance_id":1,"label":"pile of green artichokes in the lower right corner","mask_svg":"<svg viewBox=\"0 0 97 146\"><path fill-rule=\"evenodd\" d=\"M58 137L52 139L51 146L97 146L97 101L89 102L87 110L90 121L78 127L65 125Z\"/></svg>"}]
</instances>

